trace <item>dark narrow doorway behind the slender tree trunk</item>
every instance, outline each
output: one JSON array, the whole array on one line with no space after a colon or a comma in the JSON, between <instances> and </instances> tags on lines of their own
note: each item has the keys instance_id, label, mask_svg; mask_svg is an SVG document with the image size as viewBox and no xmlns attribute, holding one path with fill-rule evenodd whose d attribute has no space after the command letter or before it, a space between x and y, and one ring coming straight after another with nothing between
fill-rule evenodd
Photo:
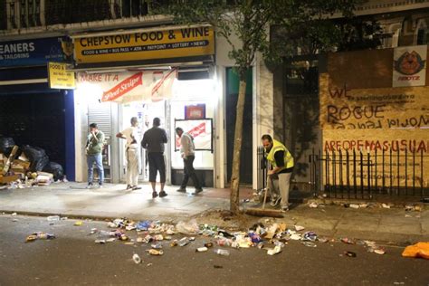
<instances>
[{"instance_id":1,"label":"dark narrow doorway behind the slender tree trunk","mask_svg":"<svg viewBox=\"0 0 429 286\"><path fill-rule=\"evenodd\" d=\"M238 100L239 79L233 68L226 69L226 159L227 159L227 182L231 182L233 172L234 156L234 129L236 118L236 107ZM243 116L243 145L240 158L240 183L252 185L253 183L253 82L252 71L247 74L247 87L244 102Z\"/></svg>"}]
</instances>

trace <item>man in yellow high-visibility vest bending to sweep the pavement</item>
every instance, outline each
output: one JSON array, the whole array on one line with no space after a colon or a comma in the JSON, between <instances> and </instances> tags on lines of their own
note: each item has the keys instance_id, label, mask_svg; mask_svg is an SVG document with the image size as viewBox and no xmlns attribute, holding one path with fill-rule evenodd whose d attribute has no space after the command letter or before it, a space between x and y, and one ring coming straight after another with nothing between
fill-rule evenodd
<instances>
[{"instance_id":1,"label":"man in yellow high-visibility vest bending to sweep the pavement","mask_svg":"<svg viewBox=\"0 0 429 286\"><path fill-rule=\"evenodd\" d=\"M272 169L268 171L267 187L271 192L272 206L281 204L281 210L289 210L289 188L293 170L291 152L281 142L272 139L268 134L262 136L265 157Z\"/></svg>"}]
</instances>

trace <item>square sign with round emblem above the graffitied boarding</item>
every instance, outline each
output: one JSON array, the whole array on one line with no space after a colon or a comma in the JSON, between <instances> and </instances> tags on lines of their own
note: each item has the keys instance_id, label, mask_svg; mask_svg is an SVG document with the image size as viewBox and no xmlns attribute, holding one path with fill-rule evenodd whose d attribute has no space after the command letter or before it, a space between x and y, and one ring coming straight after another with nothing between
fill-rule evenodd
<instances>
[{"instance_id":1,"label":"square sign with round emblem above the graffitied boarding","mask_svg":"<svg viewBox=\"0 0 429 286\"><path fill-rule=\"evenodd\" d=\"M396 48L393 87L424 86L426 82L426 45Z\"/></svg>"}]
</instances>

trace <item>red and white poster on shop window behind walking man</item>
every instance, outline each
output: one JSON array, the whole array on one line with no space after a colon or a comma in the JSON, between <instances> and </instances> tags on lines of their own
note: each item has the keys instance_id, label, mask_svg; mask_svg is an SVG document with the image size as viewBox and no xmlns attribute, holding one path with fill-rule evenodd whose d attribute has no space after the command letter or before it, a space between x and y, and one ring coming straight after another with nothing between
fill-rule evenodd
<instances>
[{"instance_id":1,"label":"red and white poster on shop window behind walking man","mask_svg":"<svg viewBox=\"0 0 429 286\"><path fill-rule=\"evenodd\" d=\"M195 150L213 151L212 119L176 119L175 129L180 127L194 138ZM175 151L180 149L180 138L176 137Z\"/></svg>"}]
</instances>

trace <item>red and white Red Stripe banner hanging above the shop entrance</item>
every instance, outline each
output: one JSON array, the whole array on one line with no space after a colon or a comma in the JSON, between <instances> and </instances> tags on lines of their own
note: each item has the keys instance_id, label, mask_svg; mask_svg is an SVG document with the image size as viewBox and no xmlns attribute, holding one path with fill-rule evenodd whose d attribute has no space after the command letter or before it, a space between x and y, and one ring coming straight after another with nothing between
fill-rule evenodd
<instances>
[{"instance_id":1,"label":"red and white Red Stripe banner hanging above the shop entrance","mask_svg":"<svg viewBox=\"0 0 429 286\"><path fill-rule=\"evenodd\" d=\"M171 98L177 69L170 71L126 71L87 73L78 72L77 88L96 85L94 96L101 101L127 103L131 101L159 101Z\"/></svg>"}]
</instances>

